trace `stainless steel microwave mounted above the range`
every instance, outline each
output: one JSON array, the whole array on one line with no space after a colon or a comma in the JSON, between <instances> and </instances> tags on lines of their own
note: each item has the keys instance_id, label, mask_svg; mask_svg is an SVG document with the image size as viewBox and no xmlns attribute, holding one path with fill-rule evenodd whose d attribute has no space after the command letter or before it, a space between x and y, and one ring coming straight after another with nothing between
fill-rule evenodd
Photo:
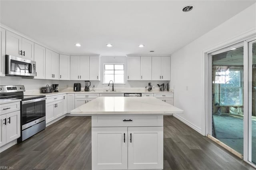
<instances>
[{"instance_id":1,"label":"stainless steel microwave mounted above the range","mask_svg":"<svg viewBox=\"0 0 256 170\"><path fill-rule=\"evenodd\" d=\"M36 76L36 62L29 59L5 55L6 76Z\"/></svg>"}]
</instances>

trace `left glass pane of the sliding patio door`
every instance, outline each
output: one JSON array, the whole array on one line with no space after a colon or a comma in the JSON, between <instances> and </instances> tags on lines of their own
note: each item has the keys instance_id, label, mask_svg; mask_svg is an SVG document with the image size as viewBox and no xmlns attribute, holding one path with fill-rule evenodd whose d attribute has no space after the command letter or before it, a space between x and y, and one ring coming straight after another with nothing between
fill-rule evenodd
<instances>
[{"instance_id":1,"label":"left glass pane of the sliding patio door","mask_svg":"<svg viewBox=\"0 0 256 170\"><path fill-rule=\"evenodd\" d=\"M244 47L212 54L212 136L243 154Z\"/></svg>"}]
</instances>

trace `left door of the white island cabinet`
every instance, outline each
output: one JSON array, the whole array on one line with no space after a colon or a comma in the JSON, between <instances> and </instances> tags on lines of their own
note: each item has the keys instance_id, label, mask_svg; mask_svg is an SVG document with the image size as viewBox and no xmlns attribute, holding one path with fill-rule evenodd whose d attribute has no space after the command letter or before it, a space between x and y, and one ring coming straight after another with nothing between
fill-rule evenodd
<instances>
[{"instance_id":1,"label":"left door of the white island cabinet","mask_svg":"<svg viewBox=\"0 0 256 170\"><path fill-rule=\"evenodd\" d=\"M92 128L93 170L127 169L127 133L127 127Z\"/></svg>"}]
</instances>

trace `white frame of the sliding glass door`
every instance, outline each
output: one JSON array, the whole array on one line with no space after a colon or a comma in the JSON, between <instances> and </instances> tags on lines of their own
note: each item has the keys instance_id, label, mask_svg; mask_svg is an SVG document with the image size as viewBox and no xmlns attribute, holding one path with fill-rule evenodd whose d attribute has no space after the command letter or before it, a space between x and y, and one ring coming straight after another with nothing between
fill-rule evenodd
<instances>
[{"instance_id":1,"label":"white frame of the sliding glass door","mask_svg":"<svg viewBox=\"0 0 256 170\"><path fill-rule=\"evenodd\" d=\"M244 34L236 38L236 40L232 39L229 42L222 43L220 45L216 45L215 47L206 49L203 52L203 68L202 68L202 77L203 77L203 122L202 122L202 134L205 136L212 134L212 55L220 53L221 51L227 51L230 47L235 45L244 45L244 153L243 153L243 160L248 164L254 166L256 165L250 162L251 160L251 136L252 132L252 117L248 116L249 108L252 109L252 101L250 101L250 93L252 90L249 91L249 87L252 87L252 73L249 71L250 67L252 70L252 65L249 65L249 43L254 42L256 40L256 33L249 32L248 34ZM250 61L252 63L252 61ZM250 66L250 67L249 67ZM249 77L250 76L250 77ZM249 80L250 84L249 84ZM250 86L249 86L250 85ZM249 128L250 127L250 128ZM250 130L249 130L250 129ZM249 147L250 146L250 147ZM249 159L250 158L250 159Z\"/></svg>"}]
</instances>

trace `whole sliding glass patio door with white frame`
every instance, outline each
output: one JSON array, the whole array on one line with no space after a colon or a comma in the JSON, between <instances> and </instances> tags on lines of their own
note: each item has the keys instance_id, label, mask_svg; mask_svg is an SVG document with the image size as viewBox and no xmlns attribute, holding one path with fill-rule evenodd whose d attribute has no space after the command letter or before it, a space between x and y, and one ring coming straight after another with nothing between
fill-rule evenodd
<instances>
[{"instance_id":1,"label":"whole sliding glass patio door with white frame","mask_svg":"<svg viewBox=\"0 0 256 170\"><path fill-rule=\"evenodd\" d=\"M208 133L256 166L256 37L208 57Z\"/></svg>"}]
</instances>

